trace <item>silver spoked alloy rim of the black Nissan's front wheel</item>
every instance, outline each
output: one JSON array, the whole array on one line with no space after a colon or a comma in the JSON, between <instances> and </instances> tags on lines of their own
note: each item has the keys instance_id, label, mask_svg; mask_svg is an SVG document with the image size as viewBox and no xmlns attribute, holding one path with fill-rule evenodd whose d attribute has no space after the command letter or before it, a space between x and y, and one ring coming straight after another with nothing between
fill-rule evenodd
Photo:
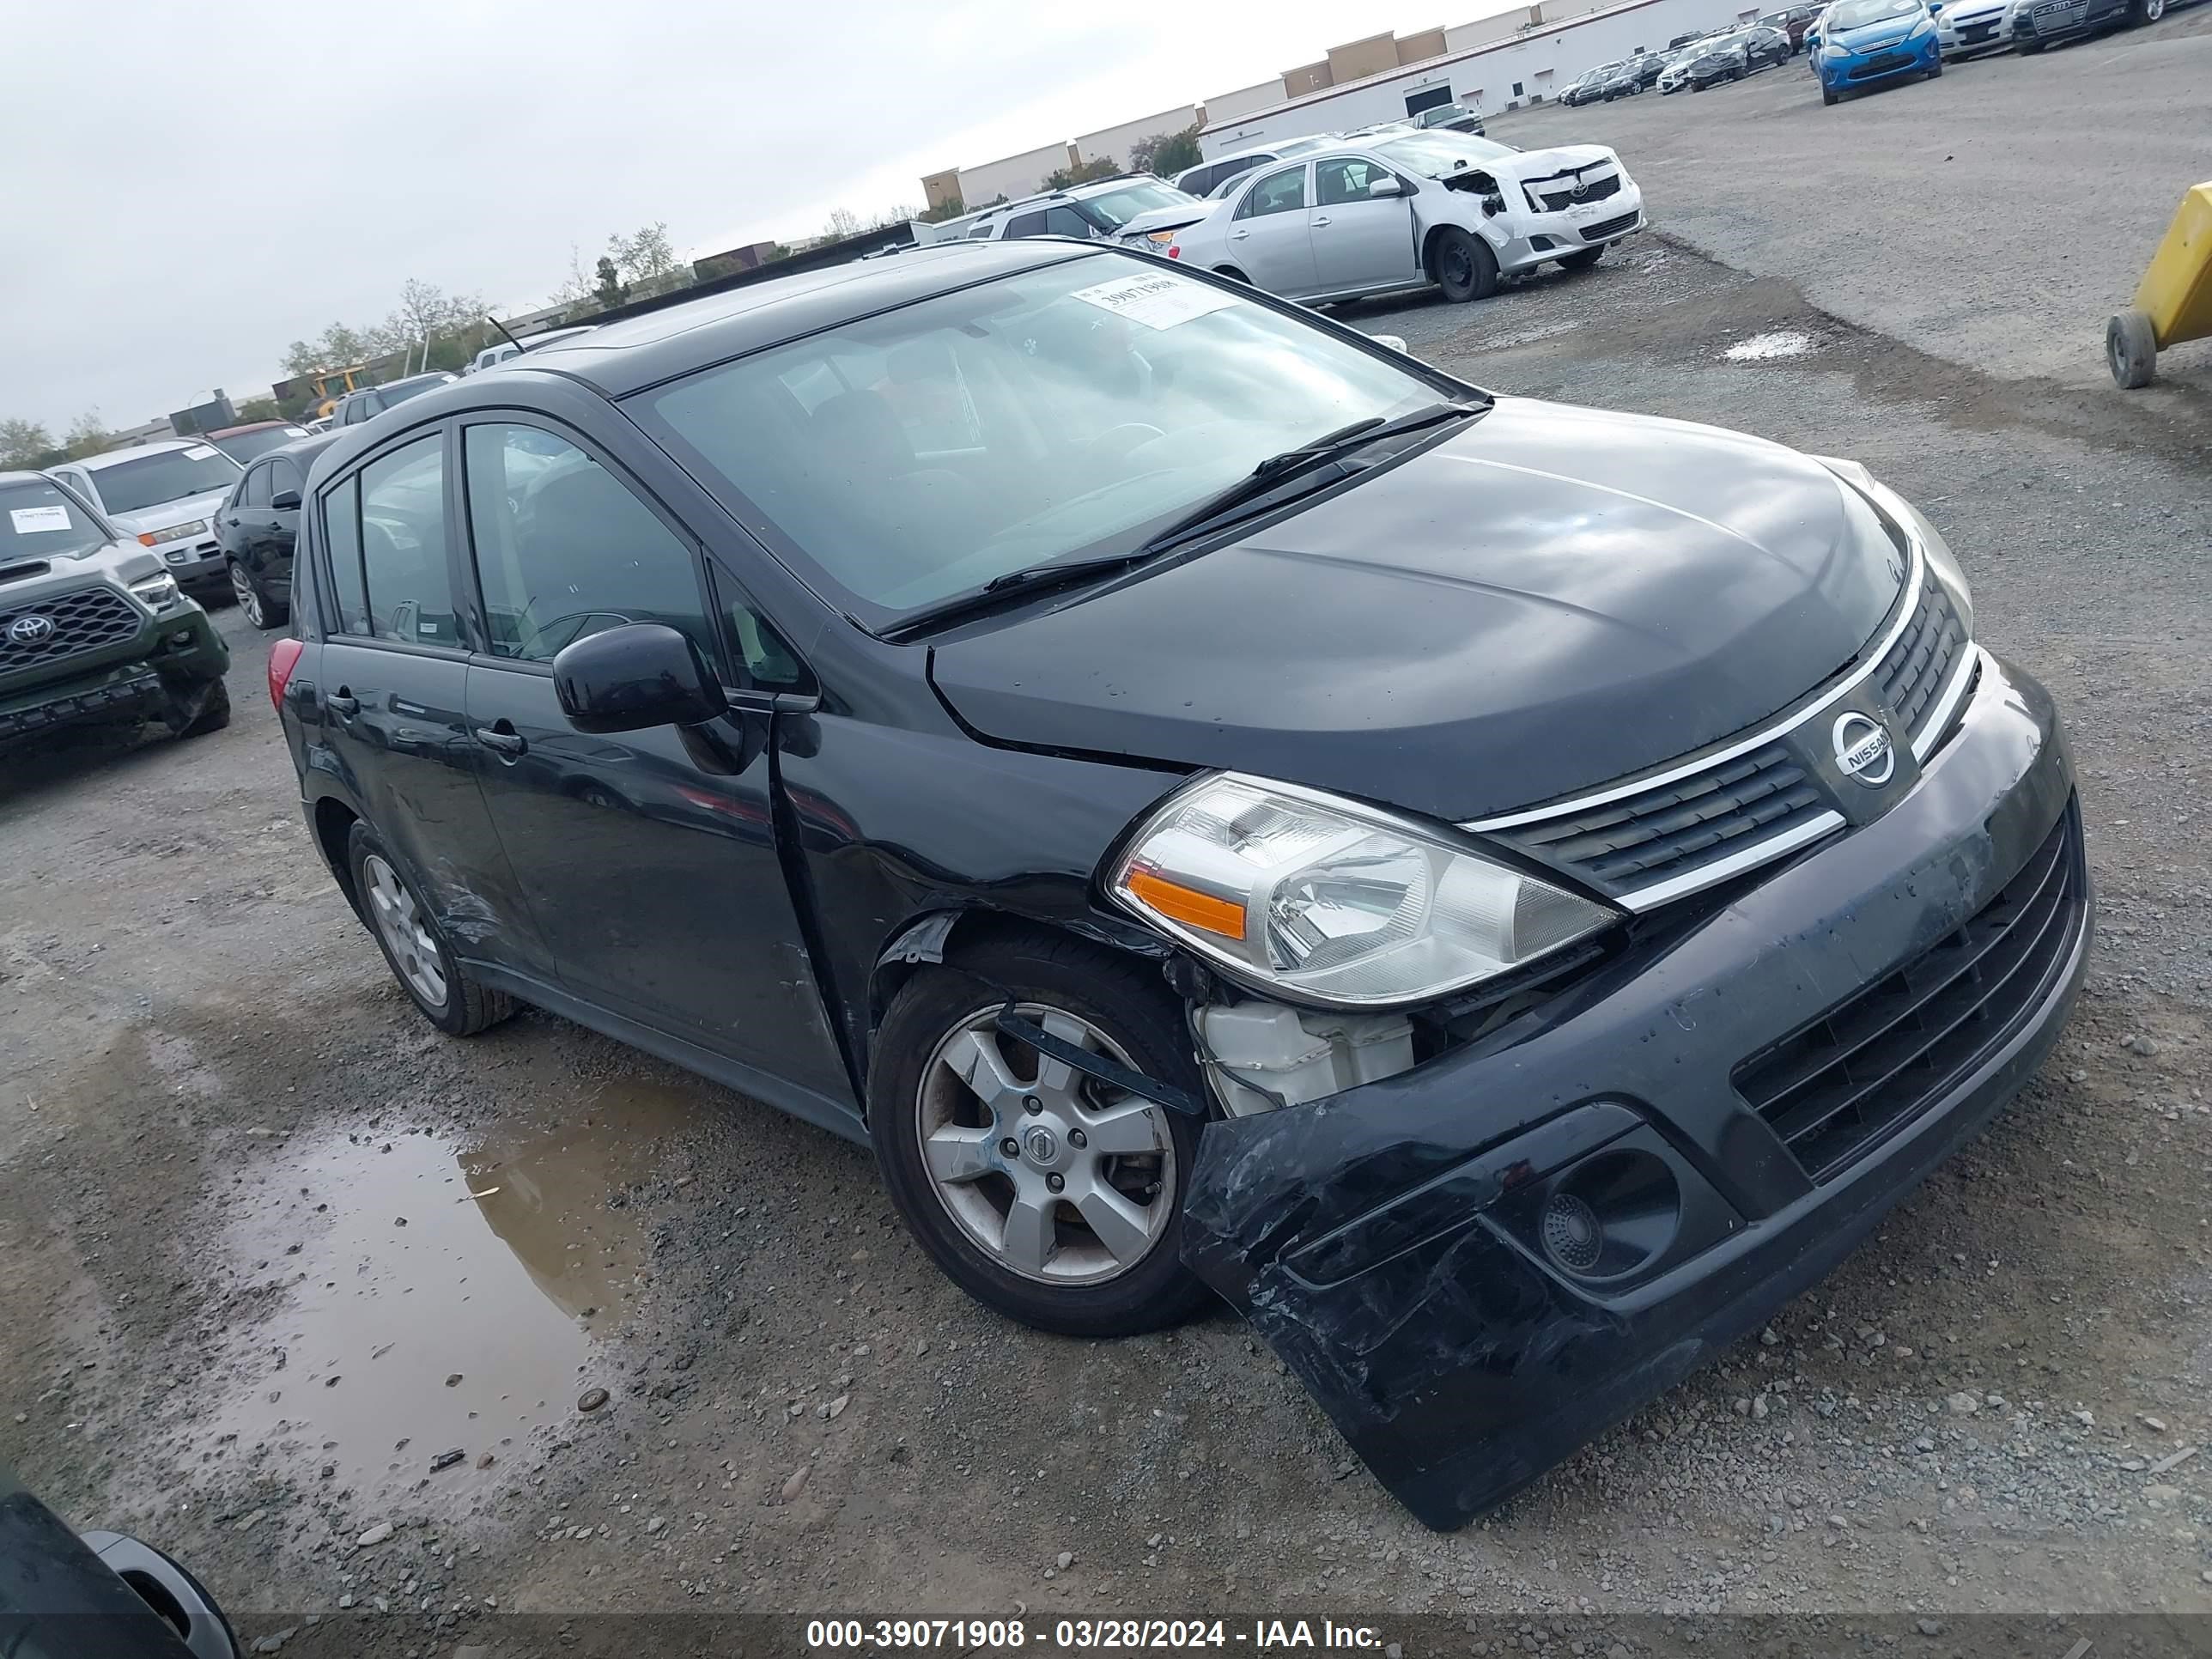
<instances>
[{"instance_id":1,"label":"silver spoked alloy rim of the black Nissan's front wheel","mask_svg":"<svg viewBox=\"0 0 2212 1659\"><path fill-rule=\"evenodd\" d=\"M1161 1108L1066 1062L1011 1042L1000 1009L956 1024L916 1091L929 1186L1006 1272L1046 1285L1097 1285L1150 1254L1175 1214L1175 1141ZM1064 1009L1015 1015L1077 1048L1133 1064Z\"/></svg>"}]
</instances>

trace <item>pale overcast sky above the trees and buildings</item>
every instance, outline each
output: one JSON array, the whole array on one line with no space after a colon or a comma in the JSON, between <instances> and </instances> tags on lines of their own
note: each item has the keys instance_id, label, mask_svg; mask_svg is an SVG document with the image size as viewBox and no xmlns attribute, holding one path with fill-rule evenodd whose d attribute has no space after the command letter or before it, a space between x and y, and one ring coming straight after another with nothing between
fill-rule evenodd
<instances>
[{"instance_id":1,"label":"pale overcast sky above the trees and buildings","mask_svg":"<svg viewBox=\"0 0 2212 1659\"><path fill-rule=\"evenodd\" d=\"M0 0L0 418L128 427L383 319L544 303L613 230L686 257L1500 0Z\"/></svg>"}]
</instances>

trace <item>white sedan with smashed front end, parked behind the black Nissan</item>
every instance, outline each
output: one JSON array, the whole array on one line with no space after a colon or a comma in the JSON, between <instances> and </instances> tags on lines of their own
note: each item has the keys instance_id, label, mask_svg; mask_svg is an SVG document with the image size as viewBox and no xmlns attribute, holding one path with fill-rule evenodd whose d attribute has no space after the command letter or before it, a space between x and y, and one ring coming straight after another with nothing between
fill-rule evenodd
<instances>
[{"instance_id":1,"label":"white sedan with smashed front end, parked behind the black Nissan","mask_svg":"<svg viewBox=\"0 0 2212 1659\"><path fill-rule=\"evenodd\" d=\"M1595 265L1641 228L1644 192L1601 144L1405 133L1254 168L1219 199L1137 215L1121 241L1318 303L1425 283L1484 299L1546 261Z\"/></svg>"}]
</instances>

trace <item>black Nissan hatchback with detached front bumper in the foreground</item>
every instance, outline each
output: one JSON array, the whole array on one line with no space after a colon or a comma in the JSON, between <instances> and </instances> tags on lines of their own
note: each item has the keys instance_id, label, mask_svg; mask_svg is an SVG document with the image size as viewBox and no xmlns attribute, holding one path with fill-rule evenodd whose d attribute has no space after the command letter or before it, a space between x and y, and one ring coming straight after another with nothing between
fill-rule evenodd
<instances>
[{"instance_id":1,"label":"black Nissan hatchback with detached front bumper in the foreground","mask_svg":"<svg viewBox=\"0 0 2212 1659\"><path fill-rule=\"evenodd\" d=\"M270 690L407 995L865 1139L1031 1325L1237 1305L1451 1526L2048 1053L2051 697L1847 460L1124 250L562 341L314 465Z\"/></svg>"}]
</instances>

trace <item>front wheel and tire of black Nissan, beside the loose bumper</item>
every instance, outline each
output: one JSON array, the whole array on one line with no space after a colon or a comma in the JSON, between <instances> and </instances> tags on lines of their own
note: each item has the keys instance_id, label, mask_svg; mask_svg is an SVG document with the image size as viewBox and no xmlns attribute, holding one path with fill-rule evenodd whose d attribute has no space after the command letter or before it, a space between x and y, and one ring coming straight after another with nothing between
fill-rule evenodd
<instances>
[{"instance_id":1,"label":"front wheel and tire of black Nissan, beside the loose bumper","mask_svg":"<svg viewBox=\"0 0 2212 1659\"><path fill-rule=\"evenodd\" d=\"M1208 1301L1181 1259L1199 1124L1000 1035L1006 995L1055 1037L1203 1097L1150 964L1075 938L993 940L916 973L883 1020L867 1097L891 1203L956 1285L1022 1325L1104 1338L1190 1318Z\"/></svg>"}]
</instances>

